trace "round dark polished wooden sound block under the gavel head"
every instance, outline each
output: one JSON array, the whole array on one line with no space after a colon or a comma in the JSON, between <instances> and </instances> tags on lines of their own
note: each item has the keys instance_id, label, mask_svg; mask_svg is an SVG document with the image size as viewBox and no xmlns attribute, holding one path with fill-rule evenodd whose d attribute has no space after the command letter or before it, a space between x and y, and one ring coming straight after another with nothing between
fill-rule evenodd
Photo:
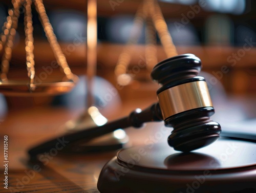
<instances>
[{"instance_id":1,"label":"round dark polished wooden sound block under the gavel head","mask_svg":"<svg viewBox=\"0 0 256 193\"><path fill-rule=\"evenodd\" d=\"M256 192L256 143L218 140L191 153L167 143L122 149L102 169L100 192Z\"/></svg>"}]
</instances>

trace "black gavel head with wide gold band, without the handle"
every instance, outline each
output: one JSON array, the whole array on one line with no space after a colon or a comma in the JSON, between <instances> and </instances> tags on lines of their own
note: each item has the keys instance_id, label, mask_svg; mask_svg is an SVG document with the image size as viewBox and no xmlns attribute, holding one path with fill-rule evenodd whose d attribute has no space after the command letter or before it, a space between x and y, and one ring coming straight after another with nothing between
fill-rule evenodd
<instances>
[{"instance_id":1,"label":"black gavel head with wide gold band, without the handle","mask_svg":"<svg viewBox=\"0 0 256 193\"><path fill-rule=\"evenodd\" d=\"M201 60L184 54L159 62L151 73L162 85L159 105L165 125L174 128L168 144L177 151L190 152L220 137L220 124L209 118L215 111L200 70Z\"/></svg>"}]
</instances>

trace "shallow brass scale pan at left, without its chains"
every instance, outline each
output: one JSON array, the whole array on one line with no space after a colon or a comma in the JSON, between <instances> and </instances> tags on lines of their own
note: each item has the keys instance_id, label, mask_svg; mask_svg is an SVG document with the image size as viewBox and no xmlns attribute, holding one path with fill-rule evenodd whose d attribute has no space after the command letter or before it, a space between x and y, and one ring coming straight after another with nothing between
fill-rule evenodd
<instances>
[{"instance_id":1,"label":"shallow brass scale pan at left, without its chains","mask_svg":"<svg viewBox=\"0 0 256 193\"><path fill-rule=\"evenodd\" d=\"M77 77L78 79L78 77ZM32 90L28 81L8 80L0 82L0 93L5 96L49 96L70 92L77 81L44 82L34 84Z\"/></svg>"}]
</instances>

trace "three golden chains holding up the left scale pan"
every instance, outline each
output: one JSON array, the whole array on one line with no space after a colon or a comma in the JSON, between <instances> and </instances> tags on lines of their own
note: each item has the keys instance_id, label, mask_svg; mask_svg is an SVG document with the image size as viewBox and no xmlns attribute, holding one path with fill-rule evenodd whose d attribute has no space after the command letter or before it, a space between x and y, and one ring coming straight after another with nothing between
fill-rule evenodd
<instances>
[{"instance_id":1,"label":"three golden chains holding up the left scale pan","mask_svg":"<svg viewBox=\"0 0 256 193\"><path fill-rule=\"evenodd\" d=\"M49 18L46 14L45 6L41 0L34 1L35 6L37 8L37 12L41 18L42 26L46 32L46 36L50 42L51 48L54 52L55 58L58 62L58 65L62 68L66 77L69 80L74 80L75 76L71 72L71 69L68 66L68 62L66 60L65 55L63 54L58 42L57 38L53 32L52 25L50 24ZM13 0L12 5L13 9L8 11L9 16L7 17L7 21L4 24L4 33L1 35L0 41L0 51L4 49L4 54L2 57L2 65L1 65L1 75L0 78L2 81L7 81L7 73L9 71L10 59L12 55L13 48L13 40L16 34L16 28L18 25L18 17L19 17L19 9L24 4L25 7L25 44L26 44L26 64L28 70L28 76L30 78L30 87L34 87L34 77L35 77L35 61L34 61L34 38L33 38L33 25L32 25L32 10L31 0Z\"/></svg>"}]
</instances>

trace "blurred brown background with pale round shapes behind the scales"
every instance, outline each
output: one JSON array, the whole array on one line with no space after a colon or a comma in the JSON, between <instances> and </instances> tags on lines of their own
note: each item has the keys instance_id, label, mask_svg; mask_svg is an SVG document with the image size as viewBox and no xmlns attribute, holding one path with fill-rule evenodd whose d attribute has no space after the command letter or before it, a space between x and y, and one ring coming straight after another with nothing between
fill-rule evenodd
<instances>
[{"instance_id":1,"label":"blurred brown background with pale round shapes behind the scales","mask_svg":"<svg viewBox=\"0 0 256 193\"><path fill-rule=\"evenodd\" d=\"M157 101L156 91L159 85L151 80L150 71L145 65L145 24L142 24L142 28L137 31L141 33L138 43L128 46L132 50L128 71L133 74L133 80L128 85L119 85L114 73L118 58L127 46L126 42L129 41L134 16L141 3L142 1L138 0L97 1L97 77L93 93L96 105L105 116L126 115L134 107L143 108ZM216 108L222 111L221 116L233 112L232 117L236 119L253 117L256 106L254 102L256 2L161 0L158 3L178 54L192 53L202 60L204 71L202 75L207 79ZM34 106L65 106L65 108L79 109L85 105L87 1L44 0L44 4L62 51L72 72L81 77L80 82L71 93L63 96L4 97L2 95L0 98L2 114L7 109L16 111ZM10 1L1 0L1 26L10 8L12 8ZM20 12L10 79L27 78L24 11L20 10ZM42 72L48 74L47 79L62 76L58 68L50 68L55 58L34 8L32 12L38 80L45 80ZM158 36L156 42L156 57L161 61L166 55Z\"/></svg>"}]
</instances>

